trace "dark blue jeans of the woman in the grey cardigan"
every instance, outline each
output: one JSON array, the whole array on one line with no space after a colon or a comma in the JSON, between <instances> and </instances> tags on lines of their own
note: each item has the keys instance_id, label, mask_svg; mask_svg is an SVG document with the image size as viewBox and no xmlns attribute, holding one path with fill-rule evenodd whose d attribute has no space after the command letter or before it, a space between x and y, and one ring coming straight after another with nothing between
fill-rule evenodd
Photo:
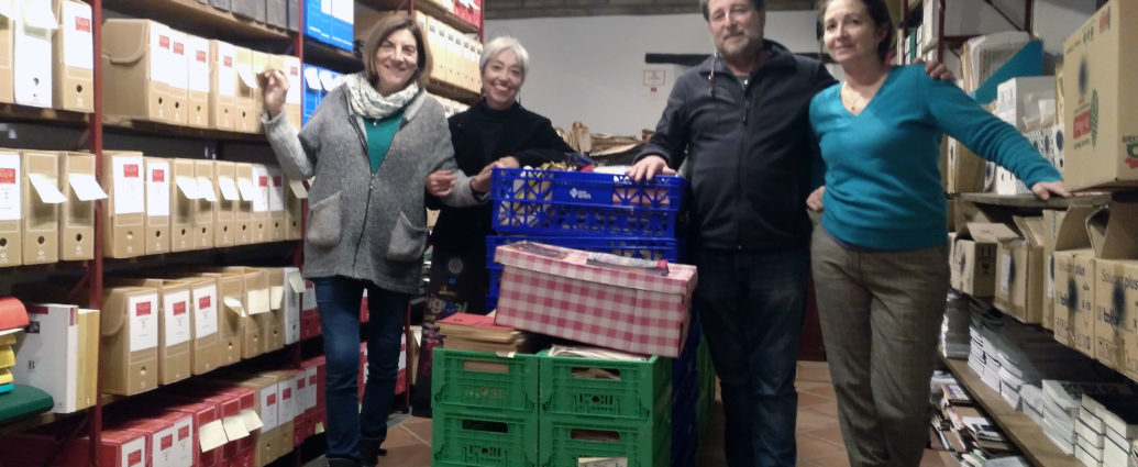
<instances>
[{"instance_id":1,"label":"dark blue jeans of the woman in the grey cardigan","mask_svg":"<svg viewBox=\"0 0 1138 467\"><path fill-rule=\"evenodd\" d=\"M360 459L360 439L387 437L410 297L348 277L313 278L328 374L328 457ZM360 300L368 290L368 381L360 407Z\"/></svg>"}]
</instances>

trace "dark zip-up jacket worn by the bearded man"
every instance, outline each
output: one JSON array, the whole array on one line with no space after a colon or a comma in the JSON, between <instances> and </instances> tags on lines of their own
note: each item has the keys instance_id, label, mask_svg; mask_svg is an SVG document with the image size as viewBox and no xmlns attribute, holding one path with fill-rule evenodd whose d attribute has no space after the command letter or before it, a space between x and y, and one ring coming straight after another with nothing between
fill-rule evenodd
<instances>
[{"instance_id":1,"label":"dark zip-up jacket worn by the bearded man","mask_svg":"<svg viewBox=\"0 0 1138 467\"><path fill-rule=\"evenodd\" d=\"M675 168L688 151L687 202L702 247L773 250L809 240L806 197L817 152L810 99L835 81L817 60L773 41L764 47L770 58L745 87L712 57L681 75L637 156L659 155Z\"/></svg>"}]
</instances>

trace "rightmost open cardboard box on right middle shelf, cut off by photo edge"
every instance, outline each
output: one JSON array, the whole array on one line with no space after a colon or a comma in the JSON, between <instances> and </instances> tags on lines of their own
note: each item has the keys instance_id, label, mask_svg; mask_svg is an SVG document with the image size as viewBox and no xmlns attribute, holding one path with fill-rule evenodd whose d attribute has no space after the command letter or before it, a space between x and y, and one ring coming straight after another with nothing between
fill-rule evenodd
<instances>
[{"instance_id":1,"label":"rightmost open cardboard box on right middle shelf, cut off by photo edge","mask_svg":"<svg viewBox=\"0 0 1138 467\"><path fill-rule=\"evenodd\" d=\"M1087 218L1095 250L1095 359L1138 375L1133 347L1138 328L1138 203L1111 202ZM1135 357L1135 356L1129 356Z\"/></svg>"}]
</instances>

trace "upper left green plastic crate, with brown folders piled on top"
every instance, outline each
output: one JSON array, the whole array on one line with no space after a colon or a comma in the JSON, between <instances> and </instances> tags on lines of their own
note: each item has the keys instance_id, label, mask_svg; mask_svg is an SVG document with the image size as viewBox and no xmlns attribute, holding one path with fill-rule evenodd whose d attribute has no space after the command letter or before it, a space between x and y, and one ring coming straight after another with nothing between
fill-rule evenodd
<instances>
[{"instance_id":1,"label":"upper left green plastic crate, with brown folders piled on top","mask_svg":"<svg viewBox=\"0 0 1138 467\"><path fill-rule=\"evenodd\" d=\"M538 359L435 349L431 394L436 405L537 414Z\"/></svg>"}]
</instances>

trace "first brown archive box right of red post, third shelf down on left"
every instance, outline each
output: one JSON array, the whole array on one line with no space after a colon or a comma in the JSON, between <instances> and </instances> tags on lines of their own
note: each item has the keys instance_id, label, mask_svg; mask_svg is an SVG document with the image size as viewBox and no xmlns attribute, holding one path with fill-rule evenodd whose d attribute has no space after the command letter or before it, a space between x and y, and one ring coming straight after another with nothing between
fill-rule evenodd
<instances>
[{"instance_id":1,"label":"first brown archive box right of red post, third shelf down on left","mask_svg":"<svg viewBox=\"0 0 1138 467\"><path fill-rule=\"evenodd\" d=\"M112 287L102 291L99 373L102 392L134 395L158 385L158 291Z\"/></svg>"}]
</instances>

